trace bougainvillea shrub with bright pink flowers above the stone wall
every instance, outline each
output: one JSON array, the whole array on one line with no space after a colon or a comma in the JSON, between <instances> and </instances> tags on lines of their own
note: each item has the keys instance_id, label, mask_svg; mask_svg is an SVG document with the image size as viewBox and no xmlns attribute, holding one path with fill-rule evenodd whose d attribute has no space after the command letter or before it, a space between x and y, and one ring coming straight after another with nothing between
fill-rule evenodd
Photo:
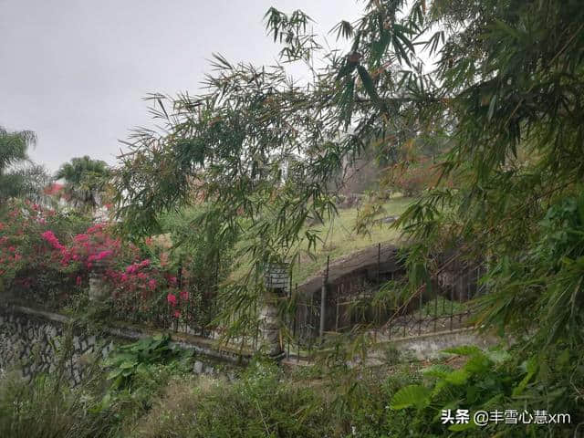
<instances>
[{"instance_id":1,"label":"bougainvillea shrub with bright pink flowers above the stone wall","mask_svg":"<svg viewBox=\"0 0 584 438\"><path fill-rule=\"evenodd\" d=\"M196 324L192 278L185 273L179 281L174 268L152 239L141 248L114 237L106 224L31 203L0 212L0 288L26 300L70 304L94 274L110 288L117 318Z\"/></svg>"}]
</instances>

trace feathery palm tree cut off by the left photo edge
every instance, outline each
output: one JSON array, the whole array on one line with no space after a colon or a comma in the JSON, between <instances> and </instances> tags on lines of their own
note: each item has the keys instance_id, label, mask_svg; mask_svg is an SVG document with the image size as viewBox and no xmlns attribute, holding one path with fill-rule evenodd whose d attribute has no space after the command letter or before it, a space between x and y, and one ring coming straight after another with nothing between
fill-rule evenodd
<instances>
[{"instance_id":1,"label":"feathery palm tree cut off by the left photo edge","mask_svg":"<svg viewBox=\"0 0 584 438\"><path fill-rule=\"evenodd\" d=\"M30 130L9 131L0 126L0 203L12 197L42 200L49 176L26 153L35 142L36 135Z\"/></svg>"}]
</instances>

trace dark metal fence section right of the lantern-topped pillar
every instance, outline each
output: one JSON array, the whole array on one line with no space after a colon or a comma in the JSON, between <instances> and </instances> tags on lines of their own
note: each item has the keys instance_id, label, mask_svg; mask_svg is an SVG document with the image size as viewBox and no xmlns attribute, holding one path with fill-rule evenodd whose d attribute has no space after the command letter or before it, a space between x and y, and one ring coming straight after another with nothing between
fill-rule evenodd
<instances>
[{"instance_id":1,"label":"dark metal fence section right of the lantern-topped pillar","mask_svg":"<svg viewBox=\"0 0 584 438\"><path fill-rule=\"evenodd\" d=\"M399 283L407 281L405 270L382 272L380 266L378 262L373 275L334 281L328 281L327 268L321 289L302 297L295 287L287 297L293 302L286 321L287 355L310 356L329 337L354 329L369 331L382 341L461 328L474 313L472 300L485 294L480 281L485 267L480 263L454 264L406 297L398 293ZM382 287L391 299L380 300Z\"/></svg>"}]
</instances>

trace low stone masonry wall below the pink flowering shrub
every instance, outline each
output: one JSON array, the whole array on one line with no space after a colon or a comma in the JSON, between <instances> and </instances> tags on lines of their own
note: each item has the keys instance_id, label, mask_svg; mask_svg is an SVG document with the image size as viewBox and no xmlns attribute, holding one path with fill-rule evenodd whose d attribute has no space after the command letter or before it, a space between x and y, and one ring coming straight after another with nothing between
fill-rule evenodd
<instances>
[{"instance_id":1,"label":"low stone masonry wall below the pink flowering shrub","mask_svg":"<svg viewBox=\"0 0 584 438\"><path fill-rule=\"evenodd\" d=\"M66 378L78 385L92 364L104 360L116 344L151 336L135 328L105 328L91 333L76 327L63 315L31 308L0 307L0 374L18 370L25 378L39 372L53 373L64 364ZM177 339L172 342L197 354L193 373L234 375L236 365L245 358L234 352L216 349L209 343Z\"/></svg>"}]
</instances>

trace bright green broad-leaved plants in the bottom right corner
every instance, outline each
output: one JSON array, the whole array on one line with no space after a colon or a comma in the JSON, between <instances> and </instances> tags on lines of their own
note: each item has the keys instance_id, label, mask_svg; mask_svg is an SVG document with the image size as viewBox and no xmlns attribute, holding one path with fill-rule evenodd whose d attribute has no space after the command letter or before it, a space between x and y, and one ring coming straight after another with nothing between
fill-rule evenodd
<instances>
[{"instance_id":1,"label":"bright green broad-leaved plants in the bottom right corner","mask_svg":"<svg viewBox=\"0 0 584 438\"><path fill-rule=\"evenodd\" d=\"M472 414L477 411L516 410L549 413L568 412L571 424L555 424L553 436L571 436L574 424L584 411L578 399L564 396L567 374L573 376L574 368L568 364L570 352L561 349L558 357L532 356L517 362L516 351L508 354L501 349L483 351L474 346L447 349L444 352L464 356L464 365L454 369L445 364L434 364L422 370L424 384L408 385L397 391L391 400L391 409L412 410L412 436L550 436L540 424L510 426L504 422L489 422L477 426ZM557 353L559 353L559 351ZM541 367L547 370L546 377ZM573 378L573 377L572 377ZM578 381L581 381L579 376ZM415 410L413 410L415 408ZM443 424L443 410L467 409L471 412L468 424Z\"/></svg>"}]
</instances>

